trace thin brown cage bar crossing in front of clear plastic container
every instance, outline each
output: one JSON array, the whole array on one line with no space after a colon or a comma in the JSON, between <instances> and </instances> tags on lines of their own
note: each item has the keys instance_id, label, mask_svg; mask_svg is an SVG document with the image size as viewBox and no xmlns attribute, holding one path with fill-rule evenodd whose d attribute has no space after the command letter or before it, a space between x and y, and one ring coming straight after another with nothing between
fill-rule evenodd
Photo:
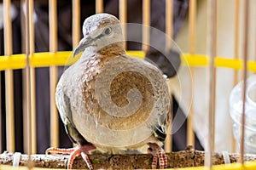
<instances>
[{"instance_id":1,"label":"thin brown cage bar crossing in front of clear plastic container","mask_svg":"<svg viewBox=\"0 0 256 170\"><path fill-rule=\"evenodd\" d=\"M248 31L249 31L249 1L244 0L244 30L243 30L243 88L242 88L242 110L241 110L241 141L240 141L240 155L241 155L241 164L244 163L244 152L245 152L245 124L246 124L246 91L247 91L247 59L248 59Z\"/></svg>"}]
</instances>

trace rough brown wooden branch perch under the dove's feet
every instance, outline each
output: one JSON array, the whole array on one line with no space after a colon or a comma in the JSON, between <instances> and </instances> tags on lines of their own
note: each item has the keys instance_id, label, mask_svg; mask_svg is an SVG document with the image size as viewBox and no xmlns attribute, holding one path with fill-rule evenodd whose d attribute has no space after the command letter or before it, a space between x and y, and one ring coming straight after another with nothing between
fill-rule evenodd
<instances>
[{"instance_id":1,"label":"rough brown wooden branch perch under the dove's feet","mask_svg":"<svg viewBox=\"0 0 256 170\"><path fill-rule=\"evenodd\" d=\"M204 151L194 150L188 147L186 150L168 153L168 167L198 167L204 165ZM239 160L239 154L229 154L230 162ZM90 155L90 161L94 169L150 169L153 156L140 155ZM224 164L222 153L212 155L213 164ZM32 155L34 167L67 168L67 155ZM5 151L0 155L0 164L12 165L14 153ZM246 155L246 161L255 161L256 155ZM20 156L20 166L26 166L28 155ZM79 156L73 162L73 168L86 169L84 160Z\"/></svg>"}]
</instances>

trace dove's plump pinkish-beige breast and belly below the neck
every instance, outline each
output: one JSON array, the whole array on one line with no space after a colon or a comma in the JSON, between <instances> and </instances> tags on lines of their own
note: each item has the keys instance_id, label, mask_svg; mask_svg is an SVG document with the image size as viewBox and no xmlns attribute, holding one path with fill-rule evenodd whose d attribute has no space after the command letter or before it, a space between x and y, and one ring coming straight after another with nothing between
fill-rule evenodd
<instances>
[{"instance_id":1,"label":"dove's plump pinkish-beige breast and belly below the neck","mask_svg":"<svg viewBox=\"0 0 256 170\"><path fill-rule=\"evenodd\" d=\"M83 110L73 114L79 132L93 144L126 147L141 143L164 121L170 102L159 71L135 60L92 59L82 75ZM158 103L165 108L158 108ZM82 123L81 123L82 122Z\"/></svg>"}]
</instances>

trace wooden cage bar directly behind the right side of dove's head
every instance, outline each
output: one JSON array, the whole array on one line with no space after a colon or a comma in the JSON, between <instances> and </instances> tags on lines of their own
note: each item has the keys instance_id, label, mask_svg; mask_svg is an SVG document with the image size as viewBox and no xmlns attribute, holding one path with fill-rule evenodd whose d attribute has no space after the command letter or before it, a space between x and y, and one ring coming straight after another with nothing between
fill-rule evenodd
<instances>
[{"instance_id":1,"label":"wooden cage bar directly behind the right side of dove's head","mask_svg":"<svg viewBox=\"0 0 256 170\"><path fill-rule=\"evenodd\" d=\"M126 40L126 23L127 23L127 0L119 0L119 20L120 22L123 24L122 28L123 28L123 34L124 34L124 40ZM125 48L126 48L127 44L125 41Z\"/></svg>"}]
</instances>

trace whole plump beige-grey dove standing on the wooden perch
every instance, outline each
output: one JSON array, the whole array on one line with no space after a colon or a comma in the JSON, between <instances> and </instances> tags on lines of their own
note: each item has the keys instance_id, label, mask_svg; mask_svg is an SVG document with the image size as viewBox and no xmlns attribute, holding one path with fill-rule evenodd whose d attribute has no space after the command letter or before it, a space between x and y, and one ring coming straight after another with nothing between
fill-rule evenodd
<instances>
[{"instance_id":1,"label":"whole plump beige-grey dove standing on the wooden perch","mask_svg":"<svg viewBox=\"0 0 256 170\"><path fill-rule=\"evenodd\" d=\"M162 149L171 117L166 78L155 65L128 56L120 21L112 14L84 20L84 37L73 50L80 58L63 72L55 90L55 104L71 149L67 168L81 155L89 169L90 152L151 153L152 168L167 167Z\"/></svg>"}]
</instances>

